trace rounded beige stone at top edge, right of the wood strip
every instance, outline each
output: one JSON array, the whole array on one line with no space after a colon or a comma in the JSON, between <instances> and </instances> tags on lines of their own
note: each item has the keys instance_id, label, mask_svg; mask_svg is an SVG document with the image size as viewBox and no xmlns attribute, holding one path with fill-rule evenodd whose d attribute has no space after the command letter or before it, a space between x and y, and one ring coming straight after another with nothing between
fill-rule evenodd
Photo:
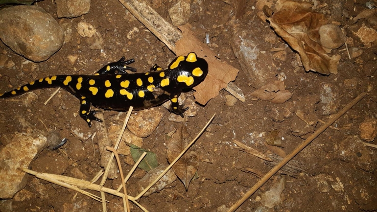
<instances>
[{"instance_id":1,"label":"rounded beige stone at top edge, right of the wood strip","mask_svg":"<svg viewBox=\"0 0 377 212\"><path fill-rule=\"evenodd\" d=\"M190 18L190 4L184 0L178 1L169 9L169 16L174 26L186 24Z\"/></svg>"}]
</instances>

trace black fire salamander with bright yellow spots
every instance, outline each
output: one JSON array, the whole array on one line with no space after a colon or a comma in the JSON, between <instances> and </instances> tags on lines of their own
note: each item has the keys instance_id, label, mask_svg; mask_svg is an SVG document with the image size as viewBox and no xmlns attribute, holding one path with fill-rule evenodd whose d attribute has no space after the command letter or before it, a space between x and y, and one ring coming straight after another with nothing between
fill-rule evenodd
<instances>
[{"instance_id":1,"label":"black fire salamander with bright yellow spots","mask_svg":"<svg viewBox=\"0 0 377 212\"><path fill-rule=\"evenodd\" d=\"M194 52L175 58L165 70L154 65L151 71L146 73L125 72L136 71L127 66L134 61L125 61L123 57L118 62L104 66L94 75L56 75L41 78L0 94L0 98L42 88L64 88L80 100L79 113L89 127L92 126L92 120L102 121L94 116L97 111L91 111L92 105L119 111L128 110L130 106L141 110L170 99L172 112L183 117L188 108L178 104L178 96L182 90L199 84L208 73L208 63Z\"/></svg>"}]
</instances>

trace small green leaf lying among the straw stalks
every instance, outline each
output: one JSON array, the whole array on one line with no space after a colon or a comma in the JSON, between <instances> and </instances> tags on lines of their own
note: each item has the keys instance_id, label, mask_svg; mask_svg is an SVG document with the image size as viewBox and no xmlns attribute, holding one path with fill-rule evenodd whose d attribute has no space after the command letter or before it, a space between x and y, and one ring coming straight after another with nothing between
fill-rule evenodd
<instances>
[{"instance_id":1,"label":"small green leaf lying among the straw stalks","mask_svg":"<svg viewBox=\"0 0 377 212\"><path fill-rule=\"evenodd\" d=\"M138 147L134 144L129 144L129 146L130 146L130 150L131 150L132 159L134 159L135 162L137 162L139 160L142 153L146 152L144 159L142 159L142 161L138 165L139 168L141 168L145 171L149 171L152 168L155 168L155 167L158 166L157 156L154 152L150 152L148 150L141 149L140 147Z\"/></svg>"}]
</instances>

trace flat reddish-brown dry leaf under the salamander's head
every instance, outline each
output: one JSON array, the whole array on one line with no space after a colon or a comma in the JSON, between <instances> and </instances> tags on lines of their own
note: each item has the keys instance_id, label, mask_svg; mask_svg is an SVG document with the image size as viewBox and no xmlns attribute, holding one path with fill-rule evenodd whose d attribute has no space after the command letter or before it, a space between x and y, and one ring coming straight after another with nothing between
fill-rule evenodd
<instances>
[{"instance_id":1,"label":"flat reddish-brown dry leaf under the salamander's head","mask_svg":"<svg viewBox=\"0 0 377 212\"><path fill-rule=\"evenodd\" d=\"M179 29L182 31L183 38L175 44L176 54L186 55L194 51L198 57L205 58L208 62L209 72L206 78L194 87L195 100L205 105L210 99L216 97L219 91L226 88L229 82L236 79L238 70L217 59L212 50L193 34L188 25L179 26Z\"/></svg>"}]
</instances>

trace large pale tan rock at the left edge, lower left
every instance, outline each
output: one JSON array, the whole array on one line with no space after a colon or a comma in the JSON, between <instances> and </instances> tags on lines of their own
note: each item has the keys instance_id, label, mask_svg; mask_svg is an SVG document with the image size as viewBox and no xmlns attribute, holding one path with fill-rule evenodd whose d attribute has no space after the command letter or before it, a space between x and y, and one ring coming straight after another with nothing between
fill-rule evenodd
<instances>
[{"instance_id":1,"label":"large pale tan rock at the left edge, lower left","mask_svg":"<svg viewBox=\"0 0 377 212\"><path fill-rule=\"evenodd\" d=\"M0 150L0 198L10 199L26 186L22 168L46 146L47 138L37 134L17 134L10 143Z\"/></svg>"}]
</instances>

